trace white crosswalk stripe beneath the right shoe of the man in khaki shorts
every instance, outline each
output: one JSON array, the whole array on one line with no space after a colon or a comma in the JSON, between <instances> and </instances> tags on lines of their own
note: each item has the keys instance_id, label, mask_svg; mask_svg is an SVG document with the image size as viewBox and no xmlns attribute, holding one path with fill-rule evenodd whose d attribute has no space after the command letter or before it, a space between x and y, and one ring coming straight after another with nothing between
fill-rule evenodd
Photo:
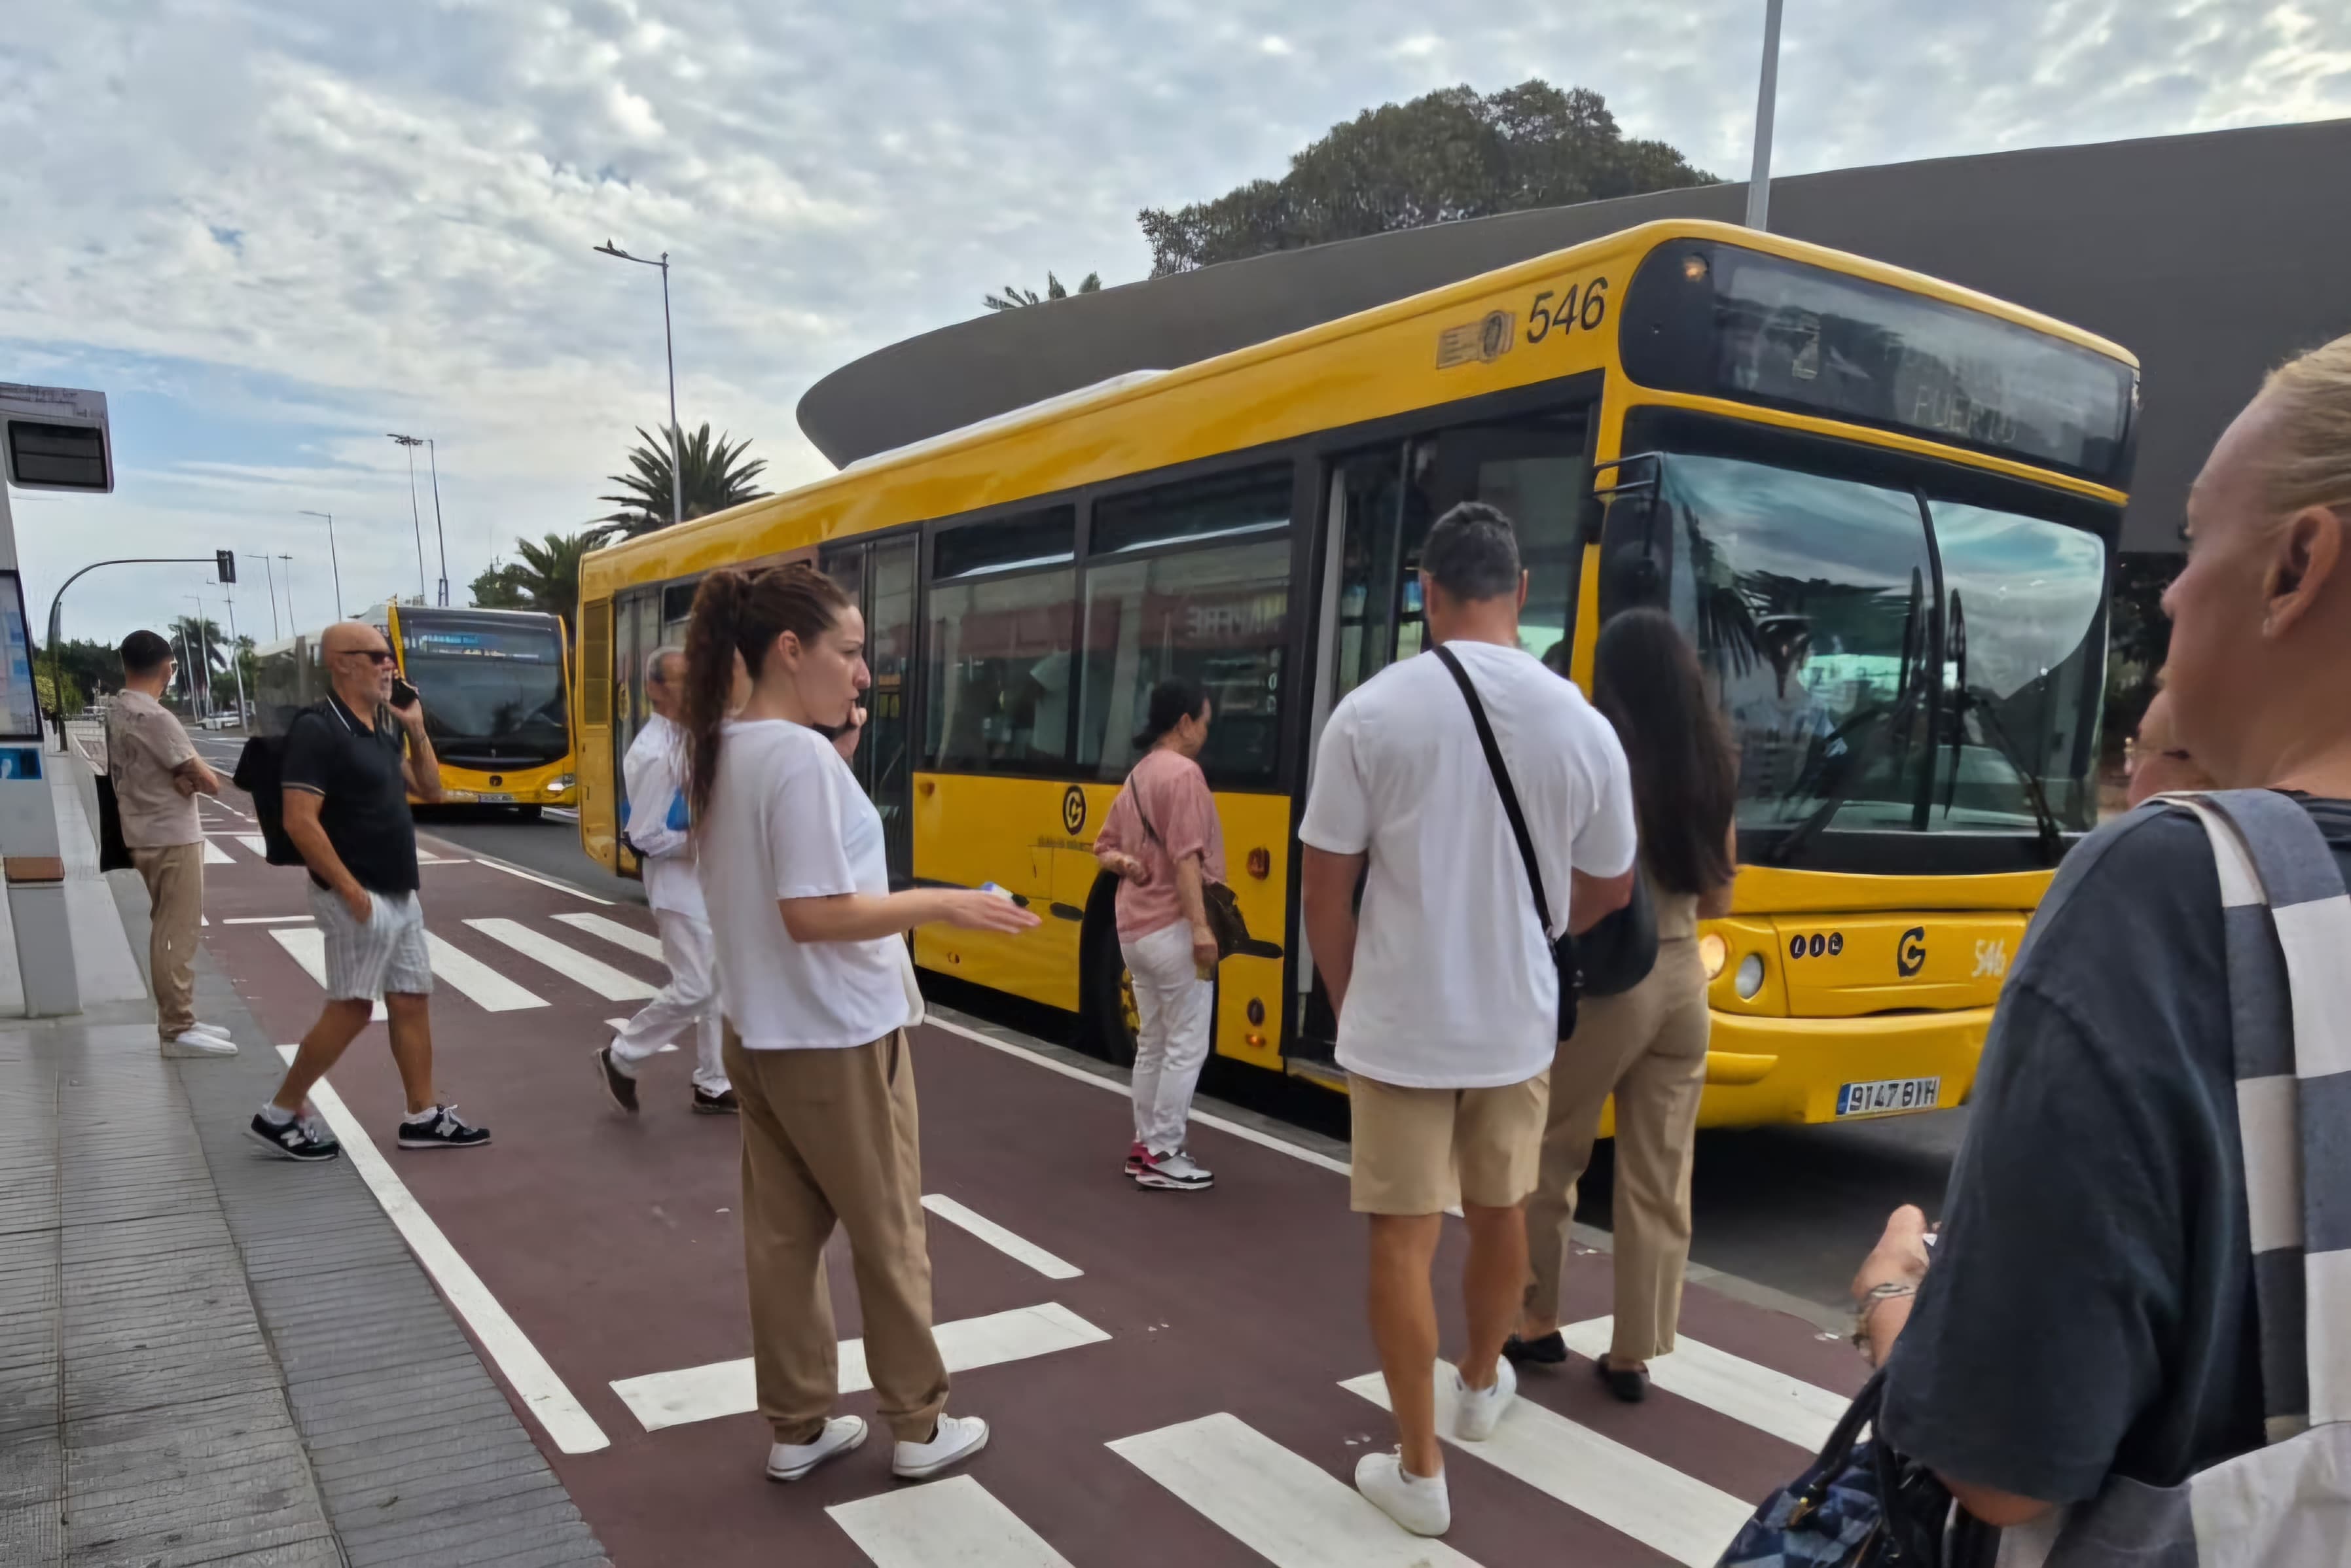
<instances>
[{"instance_id":1,"label":"white crosswalk stripe beneath the right shoe of the man in khaki shorts","mask_svg":"<svg viewBox=\"0 0 2351 1568\"><path fill-rule=\"evenodd\" d=\"M1340 1387L1387 1408L1387 1380L1380 1373L1349 1378ZM1462 1443L1453 1436L1453 1368L1444 1361L1436 1363L1436 1434L1690 1568L1721 1561L1723 1547L1754 1514L1754 1505L1533 1399L1514 1399L1483 1443Z\"/></svg>"}]
</instances>

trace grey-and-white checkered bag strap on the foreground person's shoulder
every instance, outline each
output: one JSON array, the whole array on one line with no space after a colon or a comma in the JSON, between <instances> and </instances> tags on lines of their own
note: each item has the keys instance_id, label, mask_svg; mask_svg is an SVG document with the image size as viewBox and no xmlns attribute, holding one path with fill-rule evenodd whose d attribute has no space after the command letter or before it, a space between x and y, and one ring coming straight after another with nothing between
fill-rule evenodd
<instances>
[{"instance_id":1,"label":"grey-and-white checkered bag strap on the foreground person's shoulder","mask_svg":"<svg viewBox=\"0 0 2351 1568\"><path fill-rule=\"evenodd\" d=\"M2285 795L2175 804L2203 820L2219 870L2262 1415L2283 1441L2351 1420L2351 1248L2330 1222L2351 1194L2351 1145L2320 1114L2351 1072L2351 893Z\"/></svg>"}]
</instances>

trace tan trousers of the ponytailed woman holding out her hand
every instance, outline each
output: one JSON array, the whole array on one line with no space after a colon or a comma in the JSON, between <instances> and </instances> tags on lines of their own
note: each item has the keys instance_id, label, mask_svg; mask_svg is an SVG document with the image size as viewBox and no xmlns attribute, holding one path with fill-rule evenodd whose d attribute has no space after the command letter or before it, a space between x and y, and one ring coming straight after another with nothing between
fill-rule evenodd
<instances>
[{"instance_id":1,"label":"tan trousers of the ponytailed woman holding out her hand","mask_svg":"<svg viewBox=\"0 0 2351 1568\"><path fill-rule=\"evenodd\" d=\"M915 1058L905 1032L851 1051L722 1046L743 1103L743 1262L759 1415L778 1443L811 1443L839 1396L825 1241L849 1232L865 1368L882 1420L929 1441L947 1406L931 1338Z\"/></svg>"}]
</instances>

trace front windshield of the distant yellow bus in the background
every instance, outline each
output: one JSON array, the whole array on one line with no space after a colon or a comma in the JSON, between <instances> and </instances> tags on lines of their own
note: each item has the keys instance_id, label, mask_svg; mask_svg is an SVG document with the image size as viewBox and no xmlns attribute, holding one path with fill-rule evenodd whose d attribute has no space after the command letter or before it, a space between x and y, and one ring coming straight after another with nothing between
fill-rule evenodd
<instances>
[{"instance_id":1,"label":"front windshield of the distant yellow bus in the background","mask_svg":"<svg viewBox=\"0 0 2351 1568\"><path fill-rule=\"evenodd\" d=\"M400 616L400 661L442 762L513 769L571 750L564 644L552 618Z\"/></svg>"}]
</instances>

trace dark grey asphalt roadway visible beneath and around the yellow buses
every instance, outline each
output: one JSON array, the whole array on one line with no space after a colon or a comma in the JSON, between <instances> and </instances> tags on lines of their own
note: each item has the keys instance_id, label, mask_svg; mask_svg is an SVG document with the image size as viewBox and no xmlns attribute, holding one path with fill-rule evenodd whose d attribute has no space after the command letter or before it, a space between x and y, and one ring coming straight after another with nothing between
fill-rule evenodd
<instances>
[{"instance_id":1,"label":"dark grey asphalt roadway visible beneath and around the yellow buses","mask_svg":"<svg viewBox=\"0 0 2351 1568\"><path fill-rule=\"evenodd\" d=\"M202 736L197 745L221 766L235 762L242 741ZM644 903L637 882L614 877L581 851L578 825L569 818L524 823L494 809L444 809L421 813L421 827L600 898ZM955 987L952 1001L1053 1044L1074 1044L1058 1016L1041 1009L990 1001L987 992L971 987ZM1248 1070L1218 1072L1208 1088L1225 1100L1345 1135L1338 1100L1321 1091ZM1841 1307L1855 1265L1897 1204L1918 1204L1930 1218L1940 1211L1965 1126L1968 1112L1951 1110L1846 1126L1704 1133L1693 1178L1690 1258L1822 1307ZM1601 1145L1578 1213L1601 1229L1608 1229L1608 1145Z\"/></svg>"}]
</instances>

